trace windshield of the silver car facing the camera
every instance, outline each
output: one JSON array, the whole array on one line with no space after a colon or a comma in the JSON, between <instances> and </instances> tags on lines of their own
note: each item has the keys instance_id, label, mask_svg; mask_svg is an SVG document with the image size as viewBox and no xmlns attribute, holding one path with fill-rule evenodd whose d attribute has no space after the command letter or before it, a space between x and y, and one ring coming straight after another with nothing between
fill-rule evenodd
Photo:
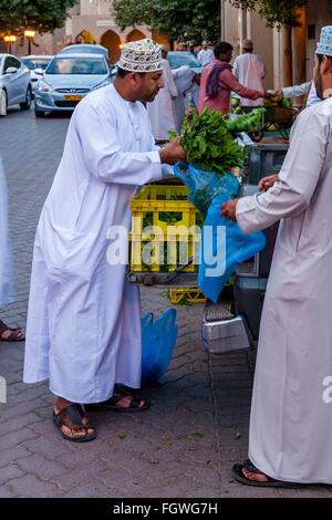
<instances>
[{"instance_id":1,"label":"windshield of the silver car facing the camera","mask_svg":"<svg viewBox=\"0 0 332 520\"><path fill-rule=\"evenodd\" d=\"M103 60L86 58L58 58L53 60L48 74L107 74Z\"/></svg>"}]
</instances>

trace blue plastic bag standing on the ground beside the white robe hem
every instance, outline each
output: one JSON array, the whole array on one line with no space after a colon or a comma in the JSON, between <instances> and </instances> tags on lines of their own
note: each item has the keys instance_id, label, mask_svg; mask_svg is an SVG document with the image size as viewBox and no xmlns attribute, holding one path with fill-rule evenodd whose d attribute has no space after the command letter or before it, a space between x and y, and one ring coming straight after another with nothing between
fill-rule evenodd
<instances>
[{"instance_id":1,"label":"blue plastic bag standing on the ground beside the white robe hem","mask_svg":"<svg viewBox=\"0 0 332 520\"><path fill-rule=\"evenodd\" d=\"M155 383L167 371L178 332L175 321L175 309L156 321L152 312L142 318L142 387Z\"/></svg>"}]
</instances>

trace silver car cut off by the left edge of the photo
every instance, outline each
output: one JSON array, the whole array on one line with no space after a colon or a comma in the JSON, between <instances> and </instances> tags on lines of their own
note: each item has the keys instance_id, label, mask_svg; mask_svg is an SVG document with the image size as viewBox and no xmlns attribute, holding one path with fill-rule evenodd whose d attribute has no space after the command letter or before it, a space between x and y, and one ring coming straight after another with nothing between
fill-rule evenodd
<instances>
[{"instance_id":1,"label":"silver car cut off by the left edge of the photo","mask_svg":"<svg viewBox=\"0 0 332 520\"><path fill-rule=\"evenodd\" d=\"M30 108L32 97L30 73L12 54L0 54L0 91L4 96L4 113L8 106L15 104L20 104L22 110Z\"/></svg>"}]
</instances>

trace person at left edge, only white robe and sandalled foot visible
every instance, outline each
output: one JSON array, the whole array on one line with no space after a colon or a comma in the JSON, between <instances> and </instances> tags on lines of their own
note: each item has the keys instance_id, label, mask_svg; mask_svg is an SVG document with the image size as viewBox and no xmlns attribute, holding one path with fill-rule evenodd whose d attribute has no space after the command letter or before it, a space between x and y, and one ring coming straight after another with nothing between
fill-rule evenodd
<instances>
[{"instance_id":1,"label":"person at left edge, only white robe and sandalled foot visible","mask_svg":"<svg viewBox=\"0 0 332 520\"><path fill-rule=\"evenodd\" d=\"M11 243L8 231L7 184L0 157L0 309L14 301ZM11 329L0 320L0 341L23 341L21 329Z\"/></svg>"}]
</instances>

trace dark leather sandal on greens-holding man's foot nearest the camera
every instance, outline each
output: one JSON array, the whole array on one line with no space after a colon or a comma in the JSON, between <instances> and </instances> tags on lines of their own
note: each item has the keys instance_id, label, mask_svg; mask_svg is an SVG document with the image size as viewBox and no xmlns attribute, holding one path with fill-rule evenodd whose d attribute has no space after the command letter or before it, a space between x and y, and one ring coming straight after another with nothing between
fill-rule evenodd
<instances>
[{"instance_id":1,"label":"dark leather sandal on greens-holding man's foot nearest the camera","mask_svg":"<svg viewBox=\"0 0 332 520\"><path fill-rule=\"evenodd\" d=\"M96 437L95 427L87 420L83 424L82 419L86 417L85 413L81 405L73 403L65 408L61 409L58 414L53 410L53 423L56 428L60 429L61 435L66 440L72 440L73 443L85 443L86 440L93 440ZM66 426L72 430L85 429L85 435L68 435L63 431L62 426ZM87 429L93 428L93 434L87 434Z\"/></svg>"}]
</instances>

